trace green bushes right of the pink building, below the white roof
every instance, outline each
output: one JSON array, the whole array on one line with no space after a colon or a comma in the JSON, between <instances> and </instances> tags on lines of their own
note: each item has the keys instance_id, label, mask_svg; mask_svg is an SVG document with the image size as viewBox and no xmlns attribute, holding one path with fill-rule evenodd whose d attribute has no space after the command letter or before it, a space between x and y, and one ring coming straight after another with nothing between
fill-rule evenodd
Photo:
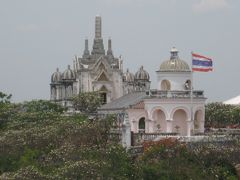
<instances>
[{"instance_id":1,"label":"green bushes right of the pink building, below the white roof","mask_svg":"<svg viewBox=\"0 0 240 180\"><path fill-rule=\"evenodd\" d=\"M210 127L226 127L240 124L240 107L222 103L209 103L205 110L205 125Z\"/></svg>"}]
</instances>

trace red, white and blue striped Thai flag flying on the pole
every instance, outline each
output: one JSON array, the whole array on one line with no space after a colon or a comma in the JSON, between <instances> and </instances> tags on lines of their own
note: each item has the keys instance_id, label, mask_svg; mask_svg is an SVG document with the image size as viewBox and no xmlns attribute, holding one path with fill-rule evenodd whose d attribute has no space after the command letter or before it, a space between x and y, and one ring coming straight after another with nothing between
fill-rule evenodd
<instances>
[{"instance_id":1,"label":"red, white and blue striped Thai flag flying on the pole","mask_svg":"<svg viewBox=\"0 0 240 180\"><path fill-rule=\"evenodd\" d=\"M192 53L192 71L208 72L212 71L212 59Z\"/></svg>"}]
</instances>

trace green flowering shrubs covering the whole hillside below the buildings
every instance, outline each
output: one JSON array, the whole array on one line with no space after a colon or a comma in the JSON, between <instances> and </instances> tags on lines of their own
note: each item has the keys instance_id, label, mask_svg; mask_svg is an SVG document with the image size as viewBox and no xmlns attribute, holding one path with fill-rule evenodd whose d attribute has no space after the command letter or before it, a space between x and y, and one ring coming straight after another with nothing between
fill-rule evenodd
<instances>
[{"instance_id":1,"label":"green flowering shrubs covering the whole hillside below the buildings","mask_svg":"<svg viewBox=\"0 0 240 180\"><path fill-rule=\"evenodd\" d=\"M10 99L0 94L0 179L237 179L237 142L189 148L167 139L132 158L109 139L114 116L89 120L49 101Z\"/></svg>"}]
</instances>

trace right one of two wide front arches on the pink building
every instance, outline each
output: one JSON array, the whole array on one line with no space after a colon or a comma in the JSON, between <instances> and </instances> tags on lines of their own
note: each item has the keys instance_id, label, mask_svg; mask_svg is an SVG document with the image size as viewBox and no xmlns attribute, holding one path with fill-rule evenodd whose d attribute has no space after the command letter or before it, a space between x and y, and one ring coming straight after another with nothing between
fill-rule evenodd
<instances>
[{"instance_id":1,"label":"right one of two wide front arches on the pink building","mask_svg":"<svg viewBox=\"0 0 240 180\"><path fill-rule=\"evenodd\" d=\"M173 114L172 132L187 136L187 113L183 109L178 109Z\"/></svg>"}]
</instances>

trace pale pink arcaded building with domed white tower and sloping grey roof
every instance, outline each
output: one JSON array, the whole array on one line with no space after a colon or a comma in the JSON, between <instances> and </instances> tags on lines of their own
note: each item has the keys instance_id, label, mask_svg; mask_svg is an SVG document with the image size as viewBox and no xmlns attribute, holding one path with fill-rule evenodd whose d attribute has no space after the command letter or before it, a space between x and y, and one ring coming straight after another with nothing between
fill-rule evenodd
<instances>
[{"instance_id":1,"label":"pale pink arcaded building with domed white tower and sloping grey roof","mask_svg":"<svg viewBox=\"0 0 240 180\"><path fill-rule=\"evenodd\" d=\"M134 133L177 133L191 136L204 132L205 101L203 91L192 91L192 71L172 48L157 74L157 89L133 92L109 104L99 112L127 114Z\"/></svg>"}]
</instances>

